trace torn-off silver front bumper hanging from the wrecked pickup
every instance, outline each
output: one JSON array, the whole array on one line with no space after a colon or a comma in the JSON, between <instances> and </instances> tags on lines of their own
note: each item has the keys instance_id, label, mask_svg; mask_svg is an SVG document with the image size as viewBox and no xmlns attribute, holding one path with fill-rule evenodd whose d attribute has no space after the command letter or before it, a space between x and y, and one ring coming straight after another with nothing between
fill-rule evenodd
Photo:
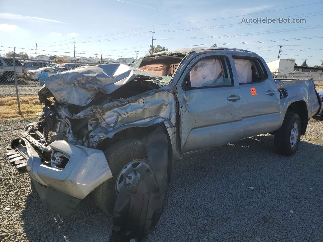
<instances>
[{"instance_id":1,"label":"torn-off silver front bumper hanging from the wrecked pickup","mask_svg":"<svg viewBox=\"0 0 323 242\"><path fill-rule=\"evenodd\" d=\"M69 157L64 168L57 168L42 161L36 146L32 137L21 136L7 147L7 156L19 172L28 172L44 207L55 213L69 215L80 200L112 177L101 150L75 146L63 140L39 146L47 149L46 152L60 152Z\"/></svg>"}]
</instances>

